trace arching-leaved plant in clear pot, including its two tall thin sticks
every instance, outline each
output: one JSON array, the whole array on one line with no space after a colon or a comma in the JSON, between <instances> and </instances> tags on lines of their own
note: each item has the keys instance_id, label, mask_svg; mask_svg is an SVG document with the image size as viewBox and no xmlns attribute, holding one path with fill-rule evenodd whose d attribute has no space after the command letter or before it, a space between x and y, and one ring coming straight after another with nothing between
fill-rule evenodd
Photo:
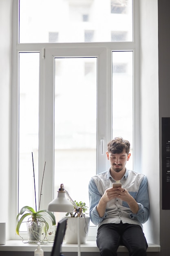
<instances>
[{"instance_id":1,"label":"arching-leaved plant in clear pot, including its two tall thin sticks","mask_svg":"<svg viewBox=\"0 0 170 256\"><path fill-rule=\"evenodd\" d=\"M32 153L32 158L33 158L33 153ZM44 165L44 171L45 171L45 165ZM34 164L33 164L33 177L34 177L34 189L35 189ZM42 177L42 183L43 183L43 178L44 178L44 172ZM41 201L41 195L42 195L42 185L41 185L41 191L40 191L40 201ZM56 225L54 214L51 211L48 211L46 209L40 210L40 202L39 202L39 210L37 211L36 191L35 191L35 210L29 206L22 207L16 217L16 221L17 221L16 234L18 234L19 236L20 236L20 226L23 222L26 222L29 243L37 243L37 242L43 243L44 241L48 241L47 233L49 230L49 223L51 223L54 226L54 229ZM43 238L42 238L42 233L44 235ZM49 232L49 234L52 234L52 233ZM22 236L20 237L22 238Z\"/></svg>"}]
</instances>

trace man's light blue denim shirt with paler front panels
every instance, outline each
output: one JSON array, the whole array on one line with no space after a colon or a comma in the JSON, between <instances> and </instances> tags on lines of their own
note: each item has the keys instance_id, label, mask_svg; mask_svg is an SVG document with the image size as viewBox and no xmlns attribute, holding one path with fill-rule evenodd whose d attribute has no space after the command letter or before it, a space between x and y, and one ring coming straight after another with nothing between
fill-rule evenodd
<instances>
[{"instance_id":1,"label":"man's light blue denim shirt with paler front panels","mask_svg":"<svg viewBox=\"0 0 170 256\"><path fill-rule=\"evenodd\" d=\"M139 211L137 213L132 213L128 203L117 197L107 202L104 216L100 217L97 212L97 204L104 191L112 187L113 182L115 180L110 175L110 168L108 171L91 178L88 186L91 221L98 227L102 224L120 223L122 221L123 223L140 225L143 229L142 223L145 223L149 218L149 195L146 176L126 169L120 180L122 188L127 189L138 203Z\"/></svg>"}]
</instances>

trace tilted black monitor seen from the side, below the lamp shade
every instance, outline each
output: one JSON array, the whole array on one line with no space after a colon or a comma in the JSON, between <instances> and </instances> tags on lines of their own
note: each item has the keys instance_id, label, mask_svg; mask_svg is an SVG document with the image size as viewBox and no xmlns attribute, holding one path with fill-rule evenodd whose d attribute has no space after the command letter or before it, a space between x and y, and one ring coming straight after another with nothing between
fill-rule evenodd
<instances>
[{"instance_id":1,"label":"tilted black monitor seen from the side, below the lamp shade","mask_svg":"<svg viewBox=\"0 0 170 256\"><path fill-rule=\"evenodd\" d=\"M51 256L61 255L61 247L62 247L62 242L63 242L63 238L66 231L66 225L67 225L67 218L63 218L58 222Z\"/></svg>"}]
</instances>

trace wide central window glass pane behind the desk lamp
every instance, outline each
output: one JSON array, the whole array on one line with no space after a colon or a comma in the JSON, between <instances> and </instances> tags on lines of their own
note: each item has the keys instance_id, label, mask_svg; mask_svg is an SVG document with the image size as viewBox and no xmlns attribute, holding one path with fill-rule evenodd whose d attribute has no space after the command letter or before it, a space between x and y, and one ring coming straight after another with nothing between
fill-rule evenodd
<instances>
[{"instance_id":1,"label":"wide central window glass pane behind the desk lamp","mask_svg":"<svg viewBox=\"0 0 170 256\"><path fill-rule=\"evenodd\" d=\"M96 174L97 58L55 58L55 64L54 198L63 183L73 200L89 206L88 182Z\"/></svg>"}]
</instances>

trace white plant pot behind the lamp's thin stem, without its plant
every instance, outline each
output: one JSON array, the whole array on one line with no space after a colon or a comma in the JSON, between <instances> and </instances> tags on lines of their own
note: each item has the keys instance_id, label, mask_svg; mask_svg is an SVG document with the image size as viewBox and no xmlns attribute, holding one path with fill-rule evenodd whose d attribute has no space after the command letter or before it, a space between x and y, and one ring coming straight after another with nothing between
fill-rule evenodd
<instances>
[{"instance_id":1,"label":"white plant pot behind the lamp's thin stem, without its plant","mask_svg":"<svg viewBox=\"0 0 170 256\"><path fill-rule=\"evenodd\" d=\"M65 218L65 217L64 217ZM77 218L66 217L67 227L65 241L69 244L77 244ZM90 227L90 217L81 217L80 220L80 243L86 243Z\"/></svg>"}]
</instances>

